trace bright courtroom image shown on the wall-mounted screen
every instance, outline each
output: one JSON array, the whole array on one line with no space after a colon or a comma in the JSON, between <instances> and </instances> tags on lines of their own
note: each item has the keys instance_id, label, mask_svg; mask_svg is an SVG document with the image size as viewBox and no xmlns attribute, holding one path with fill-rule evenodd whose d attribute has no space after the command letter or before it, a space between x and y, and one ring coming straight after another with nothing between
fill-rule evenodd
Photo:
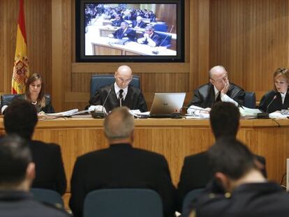
<instances>
[{"instance_id":1,"label":"bright courtroom image shown on the wall-mounted screen","mask_svg":"<svg viewBox=\"0 0 289 217\"><path fill-rule=\"evenodd\" d=\"M177 56L176 3L85 3L85 56Z\"/></svg>"}]
</instances>

